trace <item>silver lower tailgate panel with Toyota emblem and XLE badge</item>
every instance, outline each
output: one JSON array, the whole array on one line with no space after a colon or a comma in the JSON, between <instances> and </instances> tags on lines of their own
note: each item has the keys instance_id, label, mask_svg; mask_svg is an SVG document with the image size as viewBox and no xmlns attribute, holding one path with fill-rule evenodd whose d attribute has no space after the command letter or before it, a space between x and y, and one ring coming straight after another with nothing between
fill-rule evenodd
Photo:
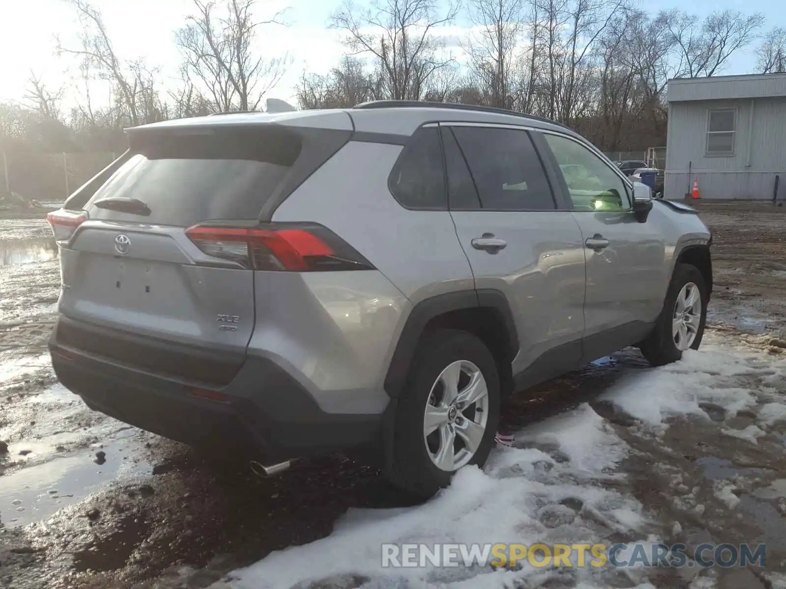
<instances>
[{"instance_id":1,"label":"silver lower tailgate panel with Toyota emblem and XLE badge","mask_svg":"<svg viewBox=\"0 0 786 589\"><path fill-rule=\"evenodd\" d=\"M127 236L127 254L115 240ZM235 265L208 266L181 227L86 221L61 249L65 316L138 335L244 351L254 328L254 282ZM221 316L237 317L227 329Z\"/></svg>"}]
</instances>

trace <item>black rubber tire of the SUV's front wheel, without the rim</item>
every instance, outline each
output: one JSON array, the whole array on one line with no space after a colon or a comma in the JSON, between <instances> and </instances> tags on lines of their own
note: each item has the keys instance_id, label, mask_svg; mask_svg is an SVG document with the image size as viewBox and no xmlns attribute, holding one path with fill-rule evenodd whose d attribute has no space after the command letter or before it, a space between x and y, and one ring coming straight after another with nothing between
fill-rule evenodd
<instances>
[{"instance_id":1,"label":"black rubber tire of the SUV's front wheel, without the rim","mask_svg":"<svg viewBox=\"0 0 786 589\"><path fill-rule=\"evenodd\" d=\"M681 359L683 349L687 349L685 348L685 343L678 344L678 337L681 337L681 335L674 335L673 330L678 296L681 295L683 289L689 284L694 284L698 288L701 309L700 313L689 314L689 316L697 317L698 325L695 335L692 335L692 340L689 338L687 342L689 342L688 347L692 349L699 349L701 345L701 339L704 336L704 325L707 322L707 303L710 300L707 285L704 283L704 278L696 266L678 264L674 268L674 274L671 276L666 298L663 301L663 309L658 316L658 320L656 320L655 327L648 338L639 344L641 353L653 366L663 366L663 364L676 362ZM686 292L689 290L691 290L690 287L688 287ZM695 309L695 305L692 308Z\"/></svg>"}]
</instances>

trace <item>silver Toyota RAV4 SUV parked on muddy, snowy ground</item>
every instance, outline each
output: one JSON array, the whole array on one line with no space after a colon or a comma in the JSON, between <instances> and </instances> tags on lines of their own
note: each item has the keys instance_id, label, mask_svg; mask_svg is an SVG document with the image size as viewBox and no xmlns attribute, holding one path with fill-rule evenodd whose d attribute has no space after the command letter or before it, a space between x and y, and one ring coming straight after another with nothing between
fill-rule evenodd
<instances>
[{"instance_id":1,"label":"silver Toyota RAV4 SUV parked on muddy, snowy ground","mask_svg":"<svg viewBox=\"0 0 786 589\"><path fill-rule=\"evenodd\" d=\"M130 129L50 215L58 378L90 408L266 470L374 457L429 496L512 393L701 342L711 234L571 130L457 104Z\"/></svg>"}]
</instances>

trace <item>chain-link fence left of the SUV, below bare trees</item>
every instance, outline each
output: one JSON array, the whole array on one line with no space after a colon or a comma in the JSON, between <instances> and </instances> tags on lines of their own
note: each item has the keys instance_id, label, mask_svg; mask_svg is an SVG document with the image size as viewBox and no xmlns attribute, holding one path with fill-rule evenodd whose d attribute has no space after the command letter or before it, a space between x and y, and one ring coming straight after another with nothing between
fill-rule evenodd
<instances>
[{"instance_id":1,"label":"chain-link fence left of the SUV, below bare trees","mask_svg":"<svg viewBox=\"0 0 786 589\"><path fill-rule=\"evenodd\" d=\"M62 203L116 154L0 152L0 207Z\"/></svg>"}]
</instances>

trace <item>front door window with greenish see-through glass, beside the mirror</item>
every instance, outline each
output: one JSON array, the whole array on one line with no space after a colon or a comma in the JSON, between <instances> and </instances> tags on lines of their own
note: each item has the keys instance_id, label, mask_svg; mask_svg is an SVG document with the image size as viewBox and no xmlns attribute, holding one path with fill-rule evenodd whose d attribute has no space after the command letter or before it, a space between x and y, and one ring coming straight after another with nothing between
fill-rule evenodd
<instances>
[{"instance_id":1,"label":"front door window with greenish see-through glass, beside the mirror","mask_svg":"<svg viewBox=\"0 0 786 589\"><path fill-rule=\"evenodd\" d=\"M577 141L544 134L560 166L574 210L629 210L626 182Z\"/></svg>"}]
</instances>

